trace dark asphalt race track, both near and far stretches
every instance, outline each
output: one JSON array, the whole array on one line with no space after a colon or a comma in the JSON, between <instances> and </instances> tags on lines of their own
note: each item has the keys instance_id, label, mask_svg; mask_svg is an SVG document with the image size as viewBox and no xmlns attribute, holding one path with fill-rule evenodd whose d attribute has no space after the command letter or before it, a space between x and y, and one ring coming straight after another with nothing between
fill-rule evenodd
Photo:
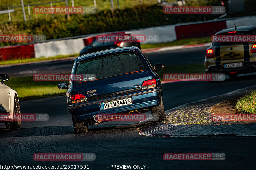
<instances>
[{"instance_id":1,"label":"dark asphalt race track, both near and far stretches","mask_svg":"<svg viewBox=\"0 0 256 170\"><path fill-rule=\"evenodd\" d=\"M145 55L151 64L203 63L205 49L206 47L196 47ZM40 64L0 67L0 72L4 71L11 76L33 75L41 73L42 70L45 70L44 73L62 73L69 72L72 64L72 60L47 61ZM169 110L185 103L255 84L255 74L245 74L237 79L227 78L224 82L212 84L205 81L163 84L164 107ZM4 158L2 165L82 164L88 165L92 170L111 169L111 165L126 164L145 165L145 169L159 170L255 169L256 153L252 148L255 147L256 137L143 136L135 127L137 122L89 125L87 134L75 135L65 96L20 102L20 106L22 113L47 113L49 120L22 122L21 128L16 130L7 130L4 124L0 124L0 149L1 157ZM96 160L34 161L34 153L95 153ZM225 153L226 158L221 161L165 161L163 153Z\"/></svg>"}]
</instances>

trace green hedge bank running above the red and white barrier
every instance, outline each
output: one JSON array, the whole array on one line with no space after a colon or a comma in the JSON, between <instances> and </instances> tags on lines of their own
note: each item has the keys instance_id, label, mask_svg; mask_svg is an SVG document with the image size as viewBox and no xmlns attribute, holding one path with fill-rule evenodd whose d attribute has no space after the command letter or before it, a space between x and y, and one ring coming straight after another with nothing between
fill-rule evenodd
<instances>
[{"instance_id":1,"label":"green hedge bank running above the red and white barrier","mask_svg":"<svg viewBox=\"0 0 256 170\"><path fill-rule=\"evenodd\" d=\"M255 3L253 0L245 0L246 11L240 15L254 15ZM220 0L205 2L188 0L190 6L220 6ZM251 10L247 10L250 8ZM221 14L219 14L221 15ZM72 37L91 33L111 32L136 28L145 28L161 25L171 25L177 23L188 23L203 21L205 18L211 20L219 15L212 14L164 14L163 7L159 5L139 5L133 8L116 9L114 11L105 10L95 14L71 15L68 20L65 17L41 18L38 20L24 22L0 23L0 34L44 34L46 39L57 39ZM237 13L230 17L238 15ZM57 16L57 15L55 15ZM14 43L4 43L1 46L12 45Z\"/></svg>"}]
</instances>

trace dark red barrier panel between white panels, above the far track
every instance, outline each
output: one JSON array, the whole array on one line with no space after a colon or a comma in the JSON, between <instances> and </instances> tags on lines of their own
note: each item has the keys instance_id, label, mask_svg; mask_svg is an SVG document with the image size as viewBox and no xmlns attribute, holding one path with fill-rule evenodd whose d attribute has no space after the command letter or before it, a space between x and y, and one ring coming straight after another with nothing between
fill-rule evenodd
<instances>
[{"instance_id":1,"label":"dark red barrier panel between white panels, above the far track","mask_svg":"<svg viewBox=\"0 0 256 170\"><path fill-rule=\"evenodd\" d=\"M177 39L212 36L227 28L226 21L175 26Z\"/></svg>"}]
</instances>

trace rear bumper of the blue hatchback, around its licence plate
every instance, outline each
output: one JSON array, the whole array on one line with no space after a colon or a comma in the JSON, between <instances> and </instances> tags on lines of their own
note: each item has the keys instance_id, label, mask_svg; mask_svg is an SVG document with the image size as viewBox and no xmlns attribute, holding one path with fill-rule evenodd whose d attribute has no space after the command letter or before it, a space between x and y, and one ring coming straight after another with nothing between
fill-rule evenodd
<instances>
[{"instance_id":1,"label":"rear bumper of the blue hatchback, around its licence plate","mask_svg":"<svg viewBox=\"0 0 256 170\"><path fill-rule=\"evenodd\" d=\"M100 108L100 103L125 99L128 97L132 98L131 105L125 105L105 110L101 110ZM73 117L73 122L77 123L83 122L86 119L93 118L93 116L97 114L115 114L154 107L161 104L161 97L162 89L156 88L115 97L108 97L94 101L72 104L68 106L68 110L70 111Z\"/></svg>"}]
</instances>

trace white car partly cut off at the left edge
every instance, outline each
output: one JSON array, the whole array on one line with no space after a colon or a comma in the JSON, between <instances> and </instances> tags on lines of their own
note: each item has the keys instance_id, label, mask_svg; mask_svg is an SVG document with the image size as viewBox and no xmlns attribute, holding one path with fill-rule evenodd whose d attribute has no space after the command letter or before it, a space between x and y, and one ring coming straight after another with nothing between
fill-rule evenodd
<instances>
[{"instance_id":1,"label":"white car partly cut off at the left edge","mask_svg":"<svg viewBox=\"0 0 256 170\"><path fill-rule=\"evenodd\" d=\"M20 128L21 112L18 94L4 84L7 80L9 80L7 74L0 74L0 123L4 123L7 129Z\"/></svg>"}]
</instances>

